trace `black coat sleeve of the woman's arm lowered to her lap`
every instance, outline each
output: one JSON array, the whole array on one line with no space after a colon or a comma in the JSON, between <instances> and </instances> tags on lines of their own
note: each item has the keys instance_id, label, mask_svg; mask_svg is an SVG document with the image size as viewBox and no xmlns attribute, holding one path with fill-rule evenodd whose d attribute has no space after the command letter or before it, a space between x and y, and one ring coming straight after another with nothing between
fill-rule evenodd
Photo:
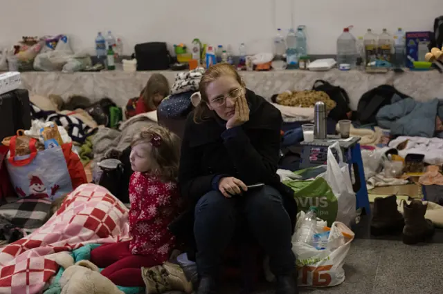
<instances>
[{"instance_id":1,"label":"black coat sleeve of the woman's arm lowered to her lap","mask_svg":"<svg viewBox=\"0 0 443 294\"><path fill-rule=\"evenodd\" d=\"M181 196L196 202L199 197L212 190L215 175L202 175L201 153L198 147L190 146L191 125L192 122L188 119L181 143L179 185Z\"/></svg>"}]
</instances>

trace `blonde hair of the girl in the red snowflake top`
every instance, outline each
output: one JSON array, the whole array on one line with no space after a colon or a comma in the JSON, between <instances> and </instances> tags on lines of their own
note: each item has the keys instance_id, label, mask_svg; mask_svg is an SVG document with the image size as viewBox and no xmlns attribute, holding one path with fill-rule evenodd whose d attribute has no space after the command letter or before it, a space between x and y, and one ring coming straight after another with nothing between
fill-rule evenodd
<instances>
[{"instance_id":1,"label":"blonde hair of the girl in the red snowflake top","mask_svg":"<svg viewBox=\"0 0 443 294\"><path fill-rule=\"evenodd\" d=\"M152 124L134 135L131 147L142 143L152 146L150 157L158 166L150 173L160 177L164 182L177 180L181 145L179 137L163 126Z\"/></svg>"}]
</instances>

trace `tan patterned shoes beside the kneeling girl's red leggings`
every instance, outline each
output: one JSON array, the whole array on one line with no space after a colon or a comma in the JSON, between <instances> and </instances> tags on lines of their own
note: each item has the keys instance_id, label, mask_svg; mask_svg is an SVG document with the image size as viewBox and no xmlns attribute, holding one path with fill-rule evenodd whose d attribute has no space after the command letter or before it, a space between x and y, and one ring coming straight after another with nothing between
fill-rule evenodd
<instances>
[{"instance_id":1,"label":"tan patterned shoes beside the kneeling girl's red leggings","mask_svg":"<svg viewBox=\"0 0 443 294\"><path fill-rule=\"evenodd\" d=\"M186 278L183 269L178 264L165 262L161 266L141 268L146 293L192 293L192 283Z\"/></svg>"}]
</instances>

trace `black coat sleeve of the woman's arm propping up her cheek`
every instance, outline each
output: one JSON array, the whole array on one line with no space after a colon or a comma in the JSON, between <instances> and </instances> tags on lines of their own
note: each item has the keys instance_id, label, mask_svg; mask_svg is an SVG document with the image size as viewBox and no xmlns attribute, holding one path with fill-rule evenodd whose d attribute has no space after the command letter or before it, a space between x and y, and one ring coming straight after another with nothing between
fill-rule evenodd
<instances>
[{"instance_id":1,"label":"black coat sleeve of the woman's arm propping up her cheek","mask_svg":"<svg viewBox=\"0 0 443 294\"><path fill-rule=\"evenodd\" d=\"M260 132L260 142L255 146L241 126L228 129L221 135L239 178L247 185L275 182L280 157L280 112L268 123L269 128L252 130Z\"/></svg>"}]
</instances>

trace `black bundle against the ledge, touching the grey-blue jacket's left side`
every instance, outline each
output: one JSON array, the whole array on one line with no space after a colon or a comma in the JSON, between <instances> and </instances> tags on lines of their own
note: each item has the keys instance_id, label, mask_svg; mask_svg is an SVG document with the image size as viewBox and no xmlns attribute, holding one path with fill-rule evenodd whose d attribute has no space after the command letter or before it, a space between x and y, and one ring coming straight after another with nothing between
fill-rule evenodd
<instances>
[{"instance_id":1,"label":"black bundle against the ledge, touching the grey-blue jacket's left side","mask_svg":"<svg viewBox=\"0 0 443 294\"><path fill-rule=\"evenodd\" d=\"M408 97L389 85L381 85L365 92L359 100L357 111L353 113L352 120L360 124L377 124L377 112L383 106L391 104L392 97L397 94L402 99Z\"/></svg>"}]
</instances>

